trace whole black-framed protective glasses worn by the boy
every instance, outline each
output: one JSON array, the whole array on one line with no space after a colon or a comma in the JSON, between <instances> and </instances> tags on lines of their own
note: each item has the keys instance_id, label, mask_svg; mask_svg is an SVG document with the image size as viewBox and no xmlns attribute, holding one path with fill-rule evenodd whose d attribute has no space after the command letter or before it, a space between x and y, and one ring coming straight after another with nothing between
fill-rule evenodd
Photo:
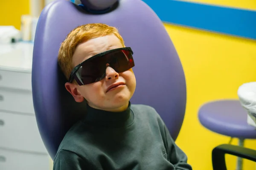
<instances>
[{"instance_id":1,"label":"whole black-framed protective glasses worn by the boy","mask_svg":"<svg viewBox=\"0 0 256 170\"><path fill-rule=\"evenodd\" d=\"M75 79L78 85L87 85L98 82L106 76L106 65L117 73L122 73L134 67L130 47L108 50L81 62L71 72L69 82Z\"/></svg>"}]
</instances>

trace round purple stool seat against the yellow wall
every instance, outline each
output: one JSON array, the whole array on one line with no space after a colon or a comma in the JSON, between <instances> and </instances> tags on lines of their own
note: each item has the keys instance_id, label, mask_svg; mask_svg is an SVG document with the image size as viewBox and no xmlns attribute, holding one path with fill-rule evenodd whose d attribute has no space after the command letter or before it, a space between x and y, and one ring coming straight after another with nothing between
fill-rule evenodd
<instances>
[{"instance_id":1,"label":"round purple stool seat against the yellow wall","mask_svg":"<svg viewBox=\"0 0 256 170\"><path fill-rule=\"evenodd\" d=\"M256 128L247 124L247 111L239 100L218 100L201 106L199 121L207 129L226 136L256 139Z\"/></svg>"}]
</instances>

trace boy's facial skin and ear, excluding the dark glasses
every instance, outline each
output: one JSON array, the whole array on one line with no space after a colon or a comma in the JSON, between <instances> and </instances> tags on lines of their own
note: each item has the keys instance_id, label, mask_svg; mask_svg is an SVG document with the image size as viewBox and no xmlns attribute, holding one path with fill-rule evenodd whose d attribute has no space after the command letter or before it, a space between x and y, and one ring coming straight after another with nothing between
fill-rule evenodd
<instances>
[{"instance_id":1,"label":"boy's facial skin and ear, excluding the dark glasses","mask_svg":"<svg viewBox=\"0 0 256 170\"><path fill-rule=\"evenodd\" d=\"M114 34L88 40L77 46L73 55L73 65L76 66L104 51L122 47L120 40ZM114 83L123 85L107 91ZM76 102L83 102L85 98L92 108L117 112L127 109L129 100L135 91L136 79L132 69L117 73L106 65L106 77L99 82L81 86L67 82L65 87Z\"/></svg>"}]
</instances>

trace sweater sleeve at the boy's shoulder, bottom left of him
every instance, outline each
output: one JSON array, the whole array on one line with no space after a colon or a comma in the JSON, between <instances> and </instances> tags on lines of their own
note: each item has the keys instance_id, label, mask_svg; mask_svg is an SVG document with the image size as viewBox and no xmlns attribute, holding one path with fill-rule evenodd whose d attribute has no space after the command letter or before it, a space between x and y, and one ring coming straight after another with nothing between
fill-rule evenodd
<instances>
[{"instance_id":1,"label":"sweater sleeve at the boy's shoulder, bottom left of him","mask_svg":"<svg viewBox=\"0 0 256 170\"><path fill-rule=\"evenodd\" d=\"M53 170L90 170L79 155L68 150L60 150L53 162Z\"/></svg>"}]
</instances>

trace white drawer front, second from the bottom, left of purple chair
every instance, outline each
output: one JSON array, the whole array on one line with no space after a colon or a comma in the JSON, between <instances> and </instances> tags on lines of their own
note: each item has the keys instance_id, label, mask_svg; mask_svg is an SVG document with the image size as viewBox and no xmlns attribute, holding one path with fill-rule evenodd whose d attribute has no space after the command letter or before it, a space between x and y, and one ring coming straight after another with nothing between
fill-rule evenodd
<instances>
[{"instance_id":1,"label":"white drawer front, second from the bottom, left of purple chair","mask_svg":"<svg viewBox=\"0 0 256 170\"><path fill-rule=\"evenodd\" d=\"M0 147L24 152L47 152L41 140L34 115L0 111L0 122Z\"/></svg>"}]
</instances>

